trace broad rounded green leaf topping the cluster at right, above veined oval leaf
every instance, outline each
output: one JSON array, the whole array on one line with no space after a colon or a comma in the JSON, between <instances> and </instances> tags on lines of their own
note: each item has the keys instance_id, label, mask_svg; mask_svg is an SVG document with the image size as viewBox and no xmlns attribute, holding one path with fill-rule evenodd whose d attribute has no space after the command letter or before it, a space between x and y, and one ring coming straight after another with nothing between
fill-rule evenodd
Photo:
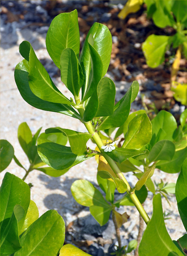
<instances>
[{"instance_id":1,"label":"broad rounded green leaf topping the cluster at right, above veined oval leaf","mask_svg":"<svg viewBox=\"0 0 187 256\"><path fill-rule=\"evenodd\" d=\"M152 139L150 141L153 146L159 140L173 141L173 133L177 129L175 117L165 111L161 110L158 115L153 118L152 123Z\"/></svg>"}]
</instances>

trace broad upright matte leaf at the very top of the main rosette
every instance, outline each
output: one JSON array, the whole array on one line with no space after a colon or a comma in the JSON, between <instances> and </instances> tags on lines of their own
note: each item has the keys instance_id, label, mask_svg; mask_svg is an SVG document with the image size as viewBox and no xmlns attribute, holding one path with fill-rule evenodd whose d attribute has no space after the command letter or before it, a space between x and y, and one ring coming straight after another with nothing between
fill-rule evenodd
<instances>
[{"instance_id":1,"label":"broad upright matte leaf at the very top of the main rosette","mask_svg":"<svg viewBox=\"0 0 187 256\"><path fill-rule=\"evenodd\" d=\"M51 59L60 68L60 55L71 48L79 57L80 35L77 10L57 15L51 22L46 36L46 47Z\"/></svg>"}]
</instances>

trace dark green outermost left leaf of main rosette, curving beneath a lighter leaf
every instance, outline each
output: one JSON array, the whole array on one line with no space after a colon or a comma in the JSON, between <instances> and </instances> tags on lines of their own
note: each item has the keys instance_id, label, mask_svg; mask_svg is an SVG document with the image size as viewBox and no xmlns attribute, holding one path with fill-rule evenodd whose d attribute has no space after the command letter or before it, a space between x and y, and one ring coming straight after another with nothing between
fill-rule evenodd
<instances>
[{"instance_id":1,"label":"dark green outermost left leaf of main rosette, curving beneath a lighter leaf","mask_svg":"<svg viewBox=\"0 0 187 256\"><path fill-rule=\"evenodd\" d=\"M18 90L23 99L33 106L46 111L58 112L67 116L72 116L77 119L81 119L80 115L70 105L53 103L45 100L41 100L31 91L29 87L29 66L28 61L23 60L18 63L14 70L14 78L17 84Z\"/></svg>"}]
</instances>

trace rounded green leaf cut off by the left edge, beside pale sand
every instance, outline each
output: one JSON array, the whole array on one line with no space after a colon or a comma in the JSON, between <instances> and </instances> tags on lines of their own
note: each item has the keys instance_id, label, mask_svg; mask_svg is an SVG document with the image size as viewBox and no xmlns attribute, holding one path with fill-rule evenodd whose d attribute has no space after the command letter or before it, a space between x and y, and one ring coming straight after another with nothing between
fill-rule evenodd
<instances>
[{"instance_id":1,"label":"rounded green leaf cut off by the left edge, beside pale sand","mask_svg":"<svg viewBox=\"0 0 187 256\"><path fill-rule=\"evenodd\" d=\"M0 140L0 172L2 172L12 161L14 148L7 140Z\"/></svg>"}]
</instances>

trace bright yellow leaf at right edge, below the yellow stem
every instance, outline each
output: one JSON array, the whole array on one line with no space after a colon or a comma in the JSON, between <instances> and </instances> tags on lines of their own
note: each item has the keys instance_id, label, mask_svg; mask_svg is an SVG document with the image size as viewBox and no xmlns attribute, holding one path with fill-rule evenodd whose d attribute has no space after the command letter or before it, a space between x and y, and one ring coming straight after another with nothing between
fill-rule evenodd
<instances>
[{"instance_id":1,"label":"bright yellow leaf at right edge, below the yellow stem","mask_svg":"<svg viewBox=\"0 0 187 256\"><path fill-rule=\"evenodd\" d=\"M187 84L172 82L171 91L175 92L173 97L183 105L187 105Z\"/></svg>"}]
</instances>

